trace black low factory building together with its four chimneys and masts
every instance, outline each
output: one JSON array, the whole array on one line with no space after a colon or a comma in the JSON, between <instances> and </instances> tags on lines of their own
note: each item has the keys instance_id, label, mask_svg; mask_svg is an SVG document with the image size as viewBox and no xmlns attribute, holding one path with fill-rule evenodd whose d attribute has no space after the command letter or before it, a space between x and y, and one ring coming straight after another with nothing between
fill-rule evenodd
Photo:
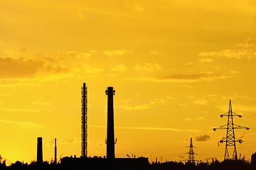
<instances>
[{"instance_id":1,"label":"black low factory building together with its four chimneys and masts","mask_svg":"<svg viewBox=\"0 0 256 170\"><path fill-rule=\"evenodd\" d=\"M145 169L149 166L149 159L146 157L115 158L114 145L117 139L114 138L114 88L107 87L107 157L87 157L87 86L82 86L82 155L77 157L63 157L60 164L65 169L76 169L85 167L85 169ZM42 137L38 137L37 164L43 163ZM55 139L55 159L56 164L57 146Z\"/></svg>"}]
</instances>

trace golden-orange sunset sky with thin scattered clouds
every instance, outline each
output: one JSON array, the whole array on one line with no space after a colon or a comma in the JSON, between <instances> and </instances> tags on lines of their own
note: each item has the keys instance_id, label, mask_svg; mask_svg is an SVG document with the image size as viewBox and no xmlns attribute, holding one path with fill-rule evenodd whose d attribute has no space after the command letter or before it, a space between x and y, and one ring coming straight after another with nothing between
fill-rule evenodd
<instances>
[{"instance_id":1,"label":"golden-orange sunset sky with thin scattered clouds","mask_svg":"<svg viewBox=\"0 0 256 170\"><path fill-rule=\"evenodd\" d=\"M81 154L81 86L88 86L88 154L106 154L114 86L116 157L223 160L235 124L238 154L256 152L256 3L213 0L0 2L0 154L10 162Z\"/></svg>"}]
</instances>

